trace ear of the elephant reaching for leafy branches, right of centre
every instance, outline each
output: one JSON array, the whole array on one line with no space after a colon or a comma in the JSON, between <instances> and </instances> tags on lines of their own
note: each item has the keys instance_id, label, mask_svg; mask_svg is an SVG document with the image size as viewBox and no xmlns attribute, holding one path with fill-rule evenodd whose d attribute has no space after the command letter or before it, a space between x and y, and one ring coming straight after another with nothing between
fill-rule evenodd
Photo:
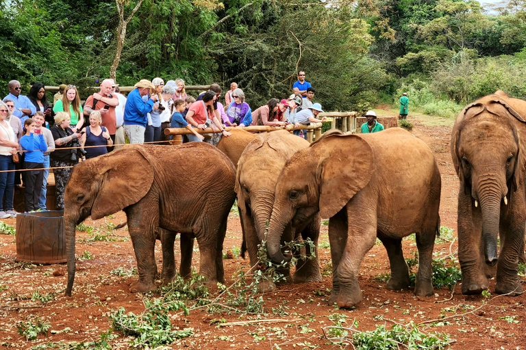
<instances>
[{"instance_id":1,"label":"ear of the elephant reaching for leafy branches, right of centre","mask_svg":"<svg viewBox=\"0 0 526 350\"><path fill-rule=\"evenodd\" d=\"M334 135L313 148L328 150L318 164L321 217L333 217L371 180L375 156L357 135Z\"/></svg>"}]
</instances>

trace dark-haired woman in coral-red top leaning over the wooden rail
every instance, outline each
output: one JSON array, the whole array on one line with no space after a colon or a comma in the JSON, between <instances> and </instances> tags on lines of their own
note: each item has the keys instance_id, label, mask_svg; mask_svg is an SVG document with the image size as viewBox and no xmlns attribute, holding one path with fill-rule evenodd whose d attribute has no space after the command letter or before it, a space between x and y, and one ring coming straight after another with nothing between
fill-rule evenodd
<instances>
[{"instance_id":1,"label":"dark-haired woman in coral-red top leaning over the wooden rail","mask_svg":"<svg viewBox=\"0 0 526 350\"><path fill-rule=\"evenodd\" d=\"M232 135L228 131L226 131L223 128L223 125L221 125L221 122L217 120L217 117L214 113L214 102L216 100L216 93L212 90L208 90L203 95L203 100L196 101L195 103L192 103L190 106L190 109L188 109L188 113L186 113L186 121L188 124L192 125L194 128L198 128L201 130L205 130L210 125L210 122L207 123L208 120L212 120L214 124L217 126L219 130L221 130L221 134L223 136L230 136ZM201 142L202 140L199 139L196 135L186 135L188 137L188 141L190 142Z\"/></svg>"}]
</instances>

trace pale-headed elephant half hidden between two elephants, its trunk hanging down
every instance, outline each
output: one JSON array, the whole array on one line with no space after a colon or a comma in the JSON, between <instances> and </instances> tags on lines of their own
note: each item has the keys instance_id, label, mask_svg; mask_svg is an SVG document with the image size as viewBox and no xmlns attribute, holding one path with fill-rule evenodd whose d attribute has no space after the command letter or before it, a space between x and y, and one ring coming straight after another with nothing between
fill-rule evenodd
<instances>
[{"instance_id":1,"label":"pale-headed elephant half hidden between two elephants, its trunk hanging down","mask_svg":"<svg viewBox=\"0 0 526 350\"><path fill-rule=\"evenodd\" d=\"M265 240L266 225L271 219L277 178L292 154L308 146L309 142L305 139L280 130L258 135L241 154L236 176L236 193L243 241L246 243L252 267L256 267L259 262L258 245ZM309 220L295 226L289 223L284 228L281 243L310 238L315 246L313 252L310 247L305 247L306 258L299 259L292 282L321 281L317 254L320 225L320 216L314 215ZM245 247L245 244L243 246ZM282 272L290 280L288 269ZM274 284L268 281L260 286L260 289L265 291L274 287Z\"/></svg>"}]
</instances>

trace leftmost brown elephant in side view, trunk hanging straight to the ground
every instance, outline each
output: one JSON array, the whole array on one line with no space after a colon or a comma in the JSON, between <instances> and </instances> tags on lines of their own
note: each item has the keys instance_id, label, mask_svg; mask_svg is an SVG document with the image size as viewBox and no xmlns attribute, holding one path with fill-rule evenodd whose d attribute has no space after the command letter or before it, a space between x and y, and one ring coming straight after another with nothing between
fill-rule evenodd
<instances>
[{"instance_id":1,"label":"leftmost brown elephant in side view, trunk hanging straight to the ground","mask_svg":"<svg viewBox=\"0 0 526 350\"><path fill-rule=\"evenodd\" d=\"M224 282L223 241L236 199L234 165L214 146L132 145L75 166L64 195L68 286L75 280L75 226L124 210L139 280L131 292L155 290L154 247L160 237L163 279L175 275L173 243L181 233L181 275L190 274L194 237L200 271L210 284Z\"/></svg>"}]
</instances>

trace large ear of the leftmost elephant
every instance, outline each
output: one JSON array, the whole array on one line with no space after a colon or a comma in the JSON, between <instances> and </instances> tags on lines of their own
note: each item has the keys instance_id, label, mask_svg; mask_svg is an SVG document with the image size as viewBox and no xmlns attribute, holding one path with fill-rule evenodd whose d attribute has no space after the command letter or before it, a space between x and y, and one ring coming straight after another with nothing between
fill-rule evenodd
<instances>
[{"instance_id":1,"label":"large ear of the leftmost elephant","mask_svg":"<svg viewBox=\"0 0 526 350\"><path fill-rule=\"evenodd\" d=\"M101 157L108 165L99 173L101 183L91 210L94 220L140 201L150 190L154 176L142 146L125 147Z\"/></svg>"}]
</instances>

